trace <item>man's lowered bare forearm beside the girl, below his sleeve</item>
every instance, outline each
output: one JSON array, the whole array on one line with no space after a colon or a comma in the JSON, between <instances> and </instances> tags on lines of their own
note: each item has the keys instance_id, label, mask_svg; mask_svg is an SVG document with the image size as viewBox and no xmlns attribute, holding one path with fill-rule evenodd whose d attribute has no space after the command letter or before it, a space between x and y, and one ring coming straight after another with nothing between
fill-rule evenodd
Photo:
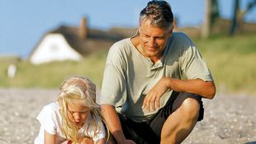
<instances>
[{"instance_id":1,"label":"man's lowered bare forearm beside the girl, below his sleeve","mask_svg":"<svg viewBox=\"0 0 256 144\"><path fill-rule=\"evenodd\" d=\"M106 121L108 130L115 137L116 141L122 143L126 140L121 129L120 119L116 113L116 109L112 105L102 105L102 116Z\"/></svg>"}]
</instances>

